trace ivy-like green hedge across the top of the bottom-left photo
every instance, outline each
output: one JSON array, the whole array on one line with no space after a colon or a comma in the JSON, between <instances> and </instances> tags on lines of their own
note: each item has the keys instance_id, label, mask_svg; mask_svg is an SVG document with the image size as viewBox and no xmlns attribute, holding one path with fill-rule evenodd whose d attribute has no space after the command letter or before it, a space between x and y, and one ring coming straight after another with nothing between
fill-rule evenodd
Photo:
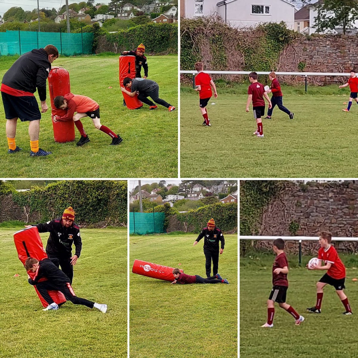
<instances>
[{"instance_id":1,"label":"ivy-like green hedge across the top of the bottom-left photo","mask_svg":"<svg viewBox=\"0 0 358 358\"><path fill-rule=\"evenodd\" d=\"M9 193L6 183L0 188ZM12 199L27 214L38 213L39 222L59 217L72 206L78 224L127 225L126 181L63 180L27 192L13 189Z\"/></svg>"}]
</instances>

